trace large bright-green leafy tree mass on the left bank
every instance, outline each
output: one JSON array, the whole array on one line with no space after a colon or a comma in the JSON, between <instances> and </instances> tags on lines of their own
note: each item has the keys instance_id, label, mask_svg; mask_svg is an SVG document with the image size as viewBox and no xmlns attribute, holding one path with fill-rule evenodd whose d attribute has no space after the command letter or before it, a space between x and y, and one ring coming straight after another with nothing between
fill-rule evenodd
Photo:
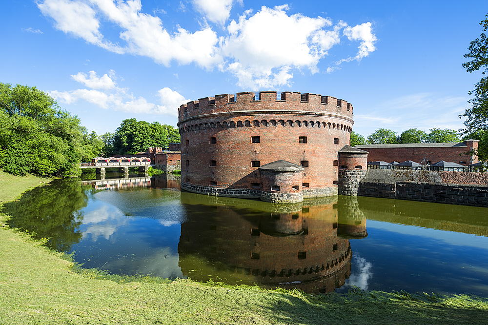
<instances>
[{"instance_id":1,"label":"large bright-green leafy tree mass on the left bank","mask_svg":"<svg viewBox=\"0 0 488 325\"><path fill-rule=\"evenodd\" d=\"M0 167L23 175L80 174L80 120L36 87L0 82Z\"/></svg>"}]
</instances>

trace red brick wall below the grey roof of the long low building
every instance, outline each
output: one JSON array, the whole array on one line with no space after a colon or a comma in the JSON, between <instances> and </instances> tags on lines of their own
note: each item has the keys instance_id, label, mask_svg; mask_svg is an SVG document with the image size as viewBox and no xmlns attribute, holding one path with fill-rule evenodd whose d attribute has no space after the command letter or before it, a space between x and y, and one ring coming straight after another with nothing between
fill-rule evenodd
<instances>
[{"instance_id":1,"label":"red brick wall below the grey roof of the long low building","mask_svg":"<svg viewBox=\"0 0 488 325\"><path fill-rule=\"evenodd\" d=\"M467 146L463 147L374 148L361 146L362 150L369 152L368 162L383 161L391 163L396 161L402 163L411 160L416 163L421 163L422 159L427 158L431 163L444 160L462 165L478 162L478 157L471 157L471 155L464 154L477 148L478 142L467 142Z\"/></svg>"}]
</instances>

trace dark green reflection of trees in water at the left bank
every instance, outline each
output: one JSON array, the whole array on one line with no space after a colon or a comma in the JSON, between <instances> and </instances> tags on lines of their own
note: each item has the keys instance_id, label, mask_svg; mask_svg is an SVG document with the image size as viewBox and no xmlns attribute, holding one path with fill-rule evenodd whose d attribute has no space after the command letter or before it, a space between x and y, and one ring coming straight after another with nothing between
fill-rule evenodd
<instances>
[{"instance_id":1,"label":"dark green reflection of trees in water at the left bank","mask_svg":"<svg viewBox=\"0 0 488 325\"><path fill-rule=\"evenodd\" d=\"M26 192L19 201L7 203L2 213L11 216L9 226L47 238L47 246L67 252L82 236L78 230L83 219L80 211L87 205L85 189L77 180L53 181Z\"/></svg>"}]
</instances>

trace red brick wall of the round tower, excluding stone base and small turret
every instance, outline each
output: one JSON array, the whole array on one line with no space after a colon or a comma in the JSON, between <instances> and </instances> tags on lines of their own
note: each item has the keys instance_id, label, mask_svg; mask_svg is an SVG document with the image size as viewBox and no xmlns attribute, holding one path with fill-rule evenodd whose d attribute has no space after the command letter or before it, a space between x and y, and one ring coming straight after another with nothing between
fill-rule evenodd
<instances>
[{"instance_id":1,"label":"red brick wall of the round tower, excluding stone base and small turret","mask_svg":"<svg viewBox=\"0 0 488 325\"><path fill-rule=\"evenodd\" d=\"M314 94L309 94L309 102L300 102L300 93L286 93L286 101L276 101L276 92L262 92L261 101L252 101L251 93L238 93L237 102L228 102L228 94L217 95L215 104L208 101L200 99L197 109L193 109L195 102L180 107L183 182L189 179L187 183L208 186L213 181L218 187L249 188L250 183L261 183L251 161L264 165L285 160L297 165L308 161L302 182L311 188L336 186L338 166L333 161L337 151L349 144L352 105L342 101L339 107L332 97L321 104L320 95ZM260 126L253 125L254 120ZM300 126L296 121L301 121ZM253 136L260 136L261 143L252 143ZM307 137L307 143L299 143L301 136ZM210 144L210 137L216 137L217 143ZM334 144L334 138L339 144ZM211 167L210 160L217 161L217 166Z\"/></svg>"}]
</instances>

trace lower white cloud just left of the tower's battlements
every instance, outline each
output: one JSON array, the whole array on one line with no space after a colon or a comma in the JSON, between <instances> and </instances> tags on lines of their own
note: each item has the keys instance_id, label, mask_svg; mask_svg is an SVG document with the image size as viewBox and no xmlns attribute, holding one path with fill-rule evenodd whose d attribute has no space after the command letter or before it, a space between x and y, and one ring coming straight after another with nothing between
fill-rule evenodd
<instances>
[{"instance_id":1,"label":"lower white cloud just left of the tower's battlements","mask_svg":"<svg viewBox=\"0 0 488 325\"><path fill-rule=\"evenodd\" d=\"M109 76L110 75L110 76ZM71 104L78 100L84 100L103 109L113 109L130 113L164 114L178 116L178 107L189 102L177 91L167 87L158 91L161 104L147 102L143 97L136 98L127 88L122 88L115 82L115 71L99 77L95 71L89 74L79 72L71 75L74 81L78 81L91 89L75 89L71 91L50 91L49 94L60 102Z\"/></svg>"}]
</instances>

